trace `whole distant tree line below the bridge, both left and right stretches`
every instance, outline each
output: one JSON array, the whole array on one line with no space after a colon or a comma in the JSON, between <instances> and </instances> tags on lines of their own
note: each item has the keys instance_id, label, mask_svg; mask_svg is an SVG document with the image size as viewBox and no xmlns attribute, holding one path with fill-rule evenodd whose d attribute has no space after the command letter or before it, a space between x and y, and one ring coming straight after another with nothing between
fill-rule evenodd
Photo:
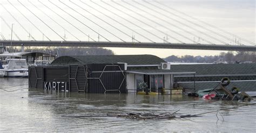
<instances>
[{"instance_id":1,"label":"whole distant tree line below the bridge, both left and right stretches","mask_svg":"<svg viewBox=\"0 0 256 133\"><path fill-rule=\"evenodd\" d=\"M9 52L21 52L21 47L7 47ZM114 55L113 51L104 48L87 47L25 47L27 52L41 52L58 56L80 56L80 55ZM3 50L0 50L0 54ZM187 63L256 63L256 52L228 51L215 56L192 56L184 55L181 57L171 55L163 58L167 62L187 62Z\"/></svg>"}]
</instances>

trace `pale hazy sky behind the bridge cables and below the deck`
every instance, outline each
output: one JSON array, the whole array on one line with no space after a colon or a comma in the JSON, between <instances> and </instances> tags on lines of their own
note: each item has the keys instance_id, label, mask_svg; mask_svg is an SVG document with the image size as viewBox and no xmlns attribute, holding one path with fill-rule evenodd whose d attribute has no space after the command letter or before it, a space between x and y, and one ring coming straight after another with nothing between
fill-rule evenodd
<instances>
[{"instance_id":1,"label":"pale hazy sky behind the bridge cables and below the deck","mask_svg":"<svg viewBox=\"0 0 256 133\"><path fill-rule=\"evenodd\" d=\"M51 2L59 6L60 9L48 1L40 0L43 4L48 6L48 8L58 13L67 21L53 13L50 9L46 8L37 0L30 0L32 4L27 0L20 0L22 4L24 4L30 11L35 13L36 16L38 16L45 24L36 18L32 13L30 13L30 11L22 6L21 3L17 2L17 0L9 1L14 6L16 6L17 9L21 11L40 30L39 31L26 18L24 18L21 13L19 13L13 6L8 3L8 1L1 0L0 3L9 12L11 12L11 14L19 21L19 23L25 27L26 31L17 23L14 18L10 16L10 14L3 8L3 6L0 5L0 16L3 17L9 26L14 24L14 32L19 36L19 38L21 38L21 40L32 40L29 38L29 34L27 33L29 32L36 40L48 40L47 38L50 40L62 40L62 38L65 38L68 41L77 41L77 39L74 37L76 36L79 40L82 41L92 41L92 39L96 41L107 41L106 39L110 41L132 41L131 36L134 35L134 38L141 42L150 42L151 40L154 42L164 42L164 38L166 39L167 36L167 41L173 43L178 41L185 43L194 43L192 41L207 43L206 40L208 40L213 43L221 44L221 42L218 40L214 40L207 36L211 35L221 41L224 41L225 43L234 45L234 42L224 39L221 36L215 35L205 30L204 28L193 25L192 23L189 23L188 21L180 18L183 17L185 19L189 19L193 23L199 24L200 26L204 26L208 29L211 29L212 31L224 35L231 40L242 42L242 40L239 40L239 38L236 36L220 32L215 28L201 24L196 20L184 16L184 14L180 14L150 0L147 0L147 2L150 2L151 4L140 0L136 0L137 3L126 0L125 2L128 4L120 0L114 0L116 3L109 0L104 0L105 3L98 0L93 0L93 2L96 4L90 2L89 0L83 1L84 3L73 0L72 2L75 4L67 0L62 0L64 4L70 6L72 9L75 9L77 12L73 11L68 6L58 1L51 0ZM163 0L157 2L169 6L172 9L176 9L178 11L189 14L190 16L203 20L208 24L224 29L225 31L255 43L254 0ZM33 4L46 15L38 10L35 6L33 6ZM126 8L120 6L119 4L125 6ZM79 8L79 5L84 9ZM104 8L108 9L109 11L105 10ZM70 15L62 10L68 12ZM172 13L176 14L178 17L174 16ZM52 19L50 19L48 16ZM59 26L55 21L57 21L57 23L61 26ZM71 23L73 26L69 23ZM5 39L10 40L10 28L6 26L5 22L1 18L0 25L0 35L2 34ZM91 29L86 26L90 27ZM196 29L197 31L190 27ZM185 31L192 34L188 34ZM102 36L99 36L98 33ZM87 36L88 34L91 39L89 39ZM142 35L144 35L146 38ZM181 35L184 35L185 38ZM2 39L1 36L0 39ZM13 36L13 39L18 40L16 35ZM250 44L245 43L245 45ZM112 49L115 54L153 54L159 57L166 57L169 55L216 55L220 53L220 51L211 50L144 48L109 49Z\"/></svg>"}]
</instances>

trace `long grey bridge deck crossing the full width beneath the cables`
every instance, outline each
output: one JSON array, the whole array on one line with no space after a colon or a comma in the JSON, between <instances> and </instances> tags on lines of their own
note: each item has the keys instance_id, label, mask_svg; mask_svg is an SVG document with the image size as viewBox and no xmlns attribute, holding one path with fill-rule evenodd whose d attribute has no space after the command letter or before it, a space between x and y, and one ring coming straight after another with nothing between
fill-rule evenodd
<instances>
[{"instance_id":1,"label":"long grey bridge deck crossing the full width beneath the cables","mask_svg":"<svg viewBox=\"0 0 256 133\"><path fill-rule=\"evenodd\" d=\"M205 45L188 43L152 43L152 42L90 42L90 41L2 41L3 46L34 46L34 47L125 47L125 48L163 48L163 49L199 49L199 50L230 50L256 51L256 46Z\"/></svg>"}]
</instances>

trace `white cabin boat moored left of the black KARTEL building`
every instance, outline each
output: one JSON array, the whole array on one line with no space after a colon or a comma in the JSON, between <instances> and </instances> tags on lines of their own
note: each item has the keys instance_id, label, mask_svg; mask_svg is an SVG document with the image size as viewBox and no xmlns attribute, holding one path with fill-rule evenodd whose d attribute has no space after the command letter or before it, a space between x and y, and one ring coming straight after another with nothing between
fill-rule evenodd
<instances>
[{"instance_id":1,"label":"white cabin boat moored left of the black KARTEL building","mask_svg":"<svg viewBox=\"0 0 256 133\"><path fill-rule=\"evenodd\" d=\"M28 64L25 59L10 58L7 64L3 65L6 77L28 77Z\"/></svg>"}]
</instances>

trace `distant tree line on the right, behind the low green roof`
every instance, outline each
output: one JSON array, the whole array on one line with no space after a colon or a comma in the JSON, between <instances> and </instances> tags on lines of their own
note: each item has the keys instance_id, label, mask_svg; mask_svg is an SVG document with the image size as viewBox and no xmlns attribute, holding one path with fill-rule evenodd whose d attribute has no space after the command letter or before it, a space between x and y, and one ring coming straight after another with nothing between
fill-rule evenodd
<instances>
[{"instance_id":1,"label":"distant tree line on the right, behind the low green roof","mask_svg":"<svg viewBox=\"0 0 256 133\"><path fill-rule=\"evenodd\" d=\"M251 63L256 62L256 52L228 51L215 56L192 56L184 55L181 57L172 55L164 58L167 62L187 62L187 63Z\"/></svg>"}]
</instances>

